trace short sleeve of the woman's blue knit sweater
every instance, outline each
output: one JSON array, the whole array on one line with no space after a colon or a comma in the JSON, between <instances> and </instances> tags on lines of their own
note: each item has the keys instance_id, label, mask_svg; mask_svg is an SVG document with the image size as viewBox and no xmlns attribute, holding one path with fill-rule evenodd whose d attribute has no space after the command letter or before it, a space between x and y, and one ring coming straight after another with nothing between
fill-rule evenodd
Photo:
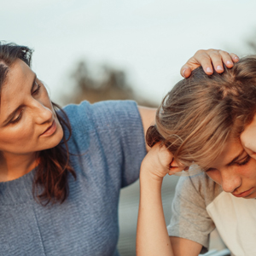
<instances>
[{"instance_id":1,"label":"short sleeve of the woman's blue knit sweater","mask_svg":"<svg viewBox=\"0 0 256 256\"><path fill-rule=\"evenodd\" d=\"M104 175L108 175L114 184L119 183L121 188L135 182L146 154L143 123L137 103L82 102L65 110L75 127L73 144L78 144L79 154L88 156L89 152L91 165L95 165L96 172L104 170Z\"/></svg>"}]
</instances>

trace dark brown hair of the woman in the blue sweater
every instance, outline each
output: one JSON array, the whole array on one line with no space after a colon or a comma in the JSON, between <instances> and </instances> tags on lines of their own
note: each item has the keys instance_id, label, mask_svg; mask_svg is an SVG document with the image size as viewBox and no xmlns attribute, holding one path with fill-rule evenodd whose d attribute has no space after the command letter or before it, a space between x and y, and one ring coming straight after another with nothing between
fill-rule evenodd
<instances>
[{"instance_id":1,"label":"dark brown hair of the woman in the blue sweater","mask_svg":"<svg viewBox=\"0 0 256 256\"><path fill-rule=\"evenodd\" d=\"M13 63L20 59L31 67L32 49L17 44L4 44L0 42L0 90L3 87L9 68ZM55 109L57 118L61 127L67 128L69 136L65 135L55 148L42 150L38 154L38 167L33 182L33 195L42 205L49 202L62 203L68 195L68 175L76 177L73 167L69 161L69 151L67 141L71 137L71 125L67 114L54 102L52 105ZM38 192L40 191L40 192Z\"/></svg>"}]
</instances>

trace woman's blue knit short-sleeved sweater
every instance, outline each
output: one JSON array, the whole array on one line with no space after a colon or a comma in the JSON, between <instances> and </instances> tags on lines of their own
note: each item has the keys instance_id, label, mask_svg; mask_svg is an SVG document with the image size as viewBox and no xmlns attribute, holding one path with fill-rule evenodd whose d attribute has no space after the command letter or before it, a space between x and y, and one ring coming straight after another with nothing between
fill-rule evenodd
<instances>
[{"instance_id":1,"label":"woman's blue knit short-sleeved sweater","mask_svg":"<svg viewBox=\"0 0 256 256\"><path fill-rule=\"evenodd\" d=\"M0 255L117 256L121 188L139 177L146 154L143 125L131 101L68 105L68 142L77 179L61 205L32 197L36 170L0 183Z\"/></svg>"}]
</instances>

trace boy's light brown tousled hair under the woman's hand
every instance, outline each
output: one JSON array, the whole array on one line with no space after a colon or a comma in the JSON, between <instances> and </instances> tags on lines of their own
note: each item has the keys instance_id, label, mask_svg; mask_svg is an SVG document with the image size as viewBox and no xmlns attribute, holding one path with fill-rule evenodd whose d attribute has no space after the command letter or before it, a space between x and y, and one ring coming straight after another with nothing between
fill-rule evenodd
<instances>
[{"instance_id":1,"label":"boy's light brown tousled hair under the woman's hand","mask_svg":"<svg viewBox=\"0 0 256 256\"><path fill-rule=\"evenodd\" d=\"M148 129L147 143L161 142L181 163L207 168L227 140L237 139L256 112L256 55L224 73L208 76L201 67L166 95Z\"/></svg>"}]
</instances>

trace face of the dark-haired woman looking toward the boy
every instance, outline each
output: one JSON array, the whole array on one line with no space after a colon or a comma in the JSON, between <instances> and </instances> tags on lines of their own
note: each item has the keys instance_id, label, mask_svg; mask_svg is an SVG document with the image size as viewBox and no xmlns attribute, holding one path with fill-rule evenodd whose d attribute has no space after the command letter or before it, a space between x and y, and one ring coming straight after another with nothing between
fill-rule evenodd
<instances>
[{"instance_id":1,"label":"face of the dark-haired woman looking toward the boy","mask_svg":"<svg viewBox=\"0 0 256 256\"><path fill-rule=\"evenodd\" d=\"M0 151L31 154L55 147L62 137L44 84L24 61L15 61L1 92Z\"/></svg>"}]
</instances>

